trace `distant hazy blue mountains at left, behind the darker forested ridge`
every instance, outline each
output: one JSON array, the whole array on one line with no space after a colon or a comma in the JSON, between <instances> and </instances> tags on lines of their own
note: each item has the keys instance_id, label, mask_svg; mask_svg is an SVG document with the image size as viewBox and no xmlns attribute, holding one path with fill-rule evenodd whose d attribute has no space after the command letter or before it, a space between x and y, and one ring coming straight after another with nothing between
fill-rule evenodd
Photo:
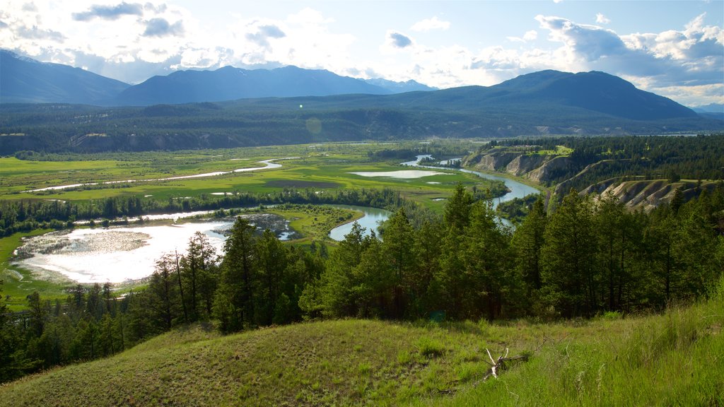
<instances>
[{"instance_id":1,"label":"distant hazy blue mountains at left, behind the darker forested ridge","mask_svg":"<svg viewBox=\"0 0 724 407\"><path fill-rule=\"evenodd\" d=\"M0 103L149 106L240 98L347 93L387 95L434 90L414 80L361 80L327 70L304 70L292 66L273 70L222 67L218 70L177 71L130 85L80 68L38 62L12 51L0 50L0 64Z\"/></svg>"}]
</instances>

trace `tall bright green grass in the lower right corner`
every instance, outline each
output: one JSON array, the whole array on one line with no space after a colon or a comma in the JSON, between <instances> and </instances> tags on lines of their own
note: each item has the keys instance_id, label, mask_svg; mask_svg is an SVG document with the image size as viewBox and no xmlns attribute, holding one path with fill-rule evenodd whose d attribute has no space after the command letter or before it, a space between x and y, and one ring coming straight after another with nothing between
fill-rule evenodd
<instances>
[{"instance_id":1,"label":"tall bright green grass in the lower right corner","mask_svg":"<svg viewBox=\"0 0 724 407\"><path fill-rule=\"evenodd\" d=\"M711 298L664 314L598 319L531 361L434 406L724 406L724 279ZM560 336L563 334L563 336Z\"/></svg>"}]
</instances>

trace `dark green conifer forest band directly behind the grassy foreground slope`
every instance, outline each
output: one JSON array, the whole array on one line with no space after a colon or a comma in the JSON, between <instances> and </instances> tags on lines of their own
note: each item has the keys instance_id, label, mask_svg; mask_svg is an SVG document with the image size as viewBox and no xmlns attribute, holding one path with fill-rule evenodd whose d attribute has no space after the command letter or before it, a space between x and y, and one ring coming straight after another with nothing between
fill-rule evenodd
<instances>
[{"instance_id":1,"label":"dark green conifer forest band directly behind the grassy foreground slope","mask_svg":"<svg viewBox=\"0 0 724 407\"><path fill-rule=\"evenodd\" d=\"M177 325L238 332L304 319L591 317L657 311L709 293L724 269L724 185L649 214L575 190L552 214L536 201L520 227L461 185L442 217L400 206L382 239L355 226L311 251L254 235L238 218L224 255L203 235L166 254L148 288L117 298L77 285L66 301L35 293L29 311L0 312L0 380L108 356Z\"/></svg>"}]
</instances>

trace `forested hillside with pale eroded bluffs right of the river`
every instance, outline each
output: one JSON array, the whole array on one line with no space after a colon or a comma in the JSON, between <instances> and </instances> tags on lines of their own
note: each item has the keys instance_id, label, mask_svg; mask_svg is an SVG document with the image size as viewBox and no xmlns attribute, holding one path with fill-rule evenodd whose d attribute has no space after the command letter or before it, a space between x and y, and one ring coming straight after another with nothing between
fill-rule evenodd
<instances>
[{"instance_id":1,"label":"forested hillside with pale eroded bluffs right of the river","mask_svg":"<svg viewBox=\"0 0 724 407\"><path fill-rule=\"evenodd\" d=\"M479 148L463 164L549 185L559 198L576 188L582 194L613 194L629 209L650 211L670 202L676 190L685 201L702 190L712 192L724 178L723 140L723 135L504 140Z\"/></svg>"}]
</instances>

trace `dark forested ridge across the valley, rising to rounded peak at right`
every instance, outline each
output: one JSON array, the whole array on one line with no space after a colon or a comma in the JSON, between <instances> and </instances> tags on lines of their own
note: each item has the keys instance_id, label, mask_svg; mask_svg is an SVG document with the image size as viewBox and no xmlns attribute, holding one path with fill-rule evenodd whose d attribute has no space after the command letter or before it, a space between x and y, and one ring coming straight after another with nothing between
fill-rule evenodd
<instances>
[{"instance_id":1,"label":"dark forested ridge across the valley, rising to rounded peak at right","mask_svg":"<svg viewBox=\"0 0 724 407\"><path fill-rule=\"evenodd\" d=\"M234 68L219 71L219 75L243 74ZM198 75L202 74L179 72L169 77ZM185 95L197 89L199 98L207 98L207 92L214 93L214 89L222 89L224 83L230 82L222 80L214 86L203 85L203 80L193 86L188 86L189 80L183 83L168 92L151 91L148 95L175 98L176 93ZM132 89L127 91L136 92ZM633 101L633 105L619 109L617 106L628 106L624 101ZM110 108L0 105L0 154L22 150L149 151L327 141L647 135L717 130L724 130L724 121L699 116L668 98L640 91L631 83L601 72L574 75L544 71L489 88L468 86L393 95L243 98L218 103Z\"/></svg>"}]
</instances>

